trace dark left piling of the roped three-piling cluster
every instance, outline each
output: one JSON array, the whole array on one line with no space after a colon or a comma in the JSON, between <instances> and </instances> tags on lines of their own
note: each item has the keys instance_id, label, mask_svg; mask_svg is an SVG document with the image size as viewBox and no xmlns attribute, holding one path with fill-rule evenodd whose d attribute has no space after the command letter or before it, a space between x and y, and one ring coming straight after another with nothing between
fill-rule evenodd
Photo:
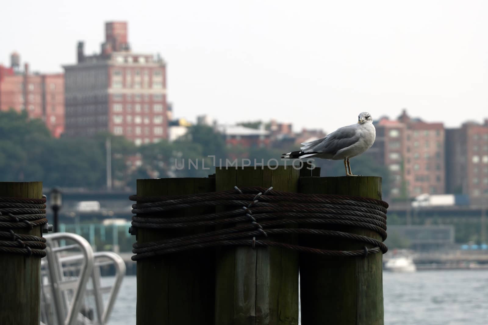
<instances>
[{"instance_id":1,"label":"dark left piling of the roped three-piling cluster","mask_svg":"<svg viewBox=\"0 0 488 325\"><path fill-rule=\"evenodd\" d=\"M137 180L142 197L215 191L214 178ZM187 208L164 216L212 213L214 208ZM144 217L150 215L144 214ZM161 216L160 216L161 217ZM207 230L208 231L208 230ZM137 242L155 242L195 230L137 230ZM214 251L199 249L137 261L137 325L213 325L215 290Z\"/></svg>"}]
</instances>

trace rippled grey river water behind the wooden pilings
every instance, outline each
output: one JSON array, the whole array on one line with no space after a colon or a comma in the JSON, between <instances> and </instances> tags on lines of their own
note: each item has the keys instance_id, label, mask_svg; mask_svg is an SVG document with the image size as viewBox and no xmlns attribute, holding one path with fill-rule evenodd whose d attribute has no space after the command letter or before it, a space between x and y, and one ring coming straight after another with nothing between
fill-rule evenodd
<instances>
[{"instance_id":1,"label":"rippled grey river water behind the wooden pilings","mask_svg":"<svg viewBox=\"0 0 488 325\"><path fill-rule=\"evenodd\" d=\"M488 270L383 273L386 325L488 325ZM136 324L136 277L126 276L109 325Z\"/></svg>"}]
</instances>

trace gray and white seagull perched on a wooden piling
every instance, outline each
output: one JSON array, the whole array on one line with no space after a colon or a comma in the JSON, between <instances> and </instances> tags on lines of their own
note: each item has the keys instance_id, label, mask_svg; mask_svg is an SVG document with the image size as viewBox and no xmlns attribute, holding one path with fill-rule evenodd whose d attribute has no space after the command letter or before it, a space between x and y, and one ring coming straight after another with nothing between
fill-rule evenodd
<instances>
[{"instance_id":1,"label":"gray and white seagull perched on a wooden piling","mask_svg":"<svg viewBox=\"0 0 488 325\"><path fill-rule=\"evenodd\" d=\"M344 159L346 176L354 175L351 171L349 159L361 155L369 149L376 138L376 129L373 125L373 118L368 112L361 112L356 124L343 126L324 138L301 143L301 150L283 154L281 158L317 157L327 160Z\"/></svg>"}]
</instances>

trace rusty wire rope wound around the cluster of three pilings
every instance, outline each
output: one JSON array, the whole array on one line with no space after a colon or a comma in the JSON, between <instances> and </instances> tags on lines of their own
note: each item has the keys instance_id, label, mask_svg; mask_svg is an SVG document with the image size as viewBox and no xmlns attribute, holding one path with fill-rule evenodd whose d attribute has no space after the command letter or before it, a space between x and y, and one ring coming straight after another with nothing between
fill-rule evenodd
<instances>
[{"instance_id":1,"label":"rusty wire rope wound around the cluster of three pilings","mask_svg":"<svg viewBox=\"0 0 488 325\"><path fill-rule=\"evenodd\" d=\"M133 244L132 260L176 253L190 249L224 245L249 245L284 247L324 256L367 256L386 253L382 241L344 231L304 228L310 224L353 226L372 230L382 240L386 239L386 208L388 203L369 198L303 194L275 191L272 187L234 187L233 191L210 192L191 195L160 197L129 197L132 204L131 234L137 228L189 229L217 226L217 230L170 238L158 242ZM175 212L185 208L223 206L223 212L197 216L175 217ZM165 213L172 214L164 216ZM294 228L285 227L287 225ZM359 250L325 250L266 239L268 235L307 234L322 235L373 245ZM260 237L261 239L256 239ZM273 236L276 240L277 236Z\"/></svg>"}]
</instances>

